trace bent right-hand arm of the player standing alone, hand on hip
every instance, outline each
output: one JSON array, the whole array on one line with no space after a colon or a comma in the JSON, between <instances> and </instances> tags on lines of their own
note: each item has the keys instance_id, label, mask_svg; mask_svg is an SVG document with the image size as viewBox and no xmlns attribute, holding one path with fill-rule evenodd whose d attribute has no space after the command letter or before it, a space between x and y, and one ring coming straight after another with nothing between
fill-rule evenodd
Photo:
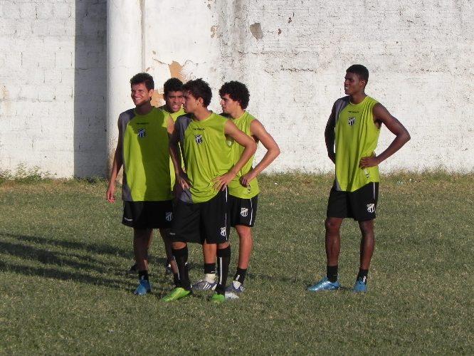
<instances>
[{"instance_id":1,"label":"bent right-hand arm of the player standing alone, hand on hip","mask_svg":"<svg viewBox=\"0 0 474 356\"><path fill-rule=\"evenodd\" d=\"M409 142L411 138L404 125L401 125L401 122L396 120L396 118L391 115L389 110L386 110L384 105L377 103L372 109L372 112L374 113L374 122L379 125L384 124L390 130L390 132L395 135L395 138L389 147L386 147L386 150L381 152L380 155L374 157L362 157L359 162L359 166L362 168L374 167L380 164L385 159L393 155L396 151L400 150L401 147L403 147L406 142Z\"/></svg>"}]
</instances>

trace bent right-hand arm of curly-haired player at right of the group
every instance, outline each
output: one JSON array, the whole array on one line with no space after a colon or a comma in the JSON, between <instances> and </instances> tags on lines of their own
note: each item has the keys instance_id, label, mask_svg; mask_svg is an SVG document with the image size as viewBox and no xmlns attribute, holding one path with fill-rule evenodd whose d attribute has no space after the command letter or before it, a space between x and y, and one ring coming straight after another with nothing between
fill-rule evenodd
<instances>
[{"instance_id":1,"label":"bent right-hand arm of curly-haired player at right of the group","mask_svg":"<svg viewBox=\"0 0 474 356\"><path fill-rule=\"evenodd\" d=\"M251 135L255 137L256 141L262 142L263 147L267 150L265 155L263 156L262 160L258 162L258 164L253 167L253 169L245 174L241 178L241 184L247 186L252 179L258 176L263 169L268 167L271 162L275 160L278 155L280 155L280 147L278 147L273 137L265 130L265 127L262 123L258 120L253 120L251 122Z\"/></svg>"}]
</instances>

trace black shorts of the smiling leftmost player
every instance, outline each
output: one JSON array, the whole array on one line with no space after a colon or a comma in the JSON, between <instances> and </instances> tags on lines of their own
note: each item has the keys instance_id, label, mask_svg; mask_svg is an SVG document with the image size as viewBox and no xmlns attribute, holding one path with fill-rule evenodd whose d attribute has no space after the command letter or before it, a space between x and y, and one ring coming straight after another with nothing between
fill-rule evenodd
<instances>
[{"instance_id":1,"label":"black shorts of the smiling leftmost player","mask_svg":"<svg viewBox=\"0 0 474 356\"><path fill-rule=\"evenodd\" d=\"M172 200L123 202L124 225L135 229L169 229L172 221Z\"/></svg>"}]
</instances>

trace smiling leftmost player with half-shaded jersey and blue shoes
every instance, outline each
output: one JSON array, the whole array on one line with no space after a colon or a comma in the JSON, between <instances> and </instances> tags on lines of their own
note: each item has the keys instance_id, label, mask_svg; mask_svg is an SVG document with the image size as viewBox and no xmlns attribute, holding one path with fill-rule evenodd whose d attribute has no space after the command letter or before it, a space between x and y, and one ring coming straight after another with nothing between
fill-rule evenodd
<instances>
[{"instance_id":1,"label":"smiling leftmost player with half-shaded jersey and blue shoes","mask_svg":"<svg viewBox=\"0 0 474 356\"><path fill-rule=\"evenodd\" d=\"M174 125L167 112L151 105L151 75L138 73L130 79L130 85L135 108L122 112L118 119L119 137L106 196L111 203L115 201L115 180L123 166L122 224L133 228L139 278L135 294L145 295L152 290L148 249L153 229L159 229L166 239L173 219L168 142Z\"/></svg>"}]
</instances>

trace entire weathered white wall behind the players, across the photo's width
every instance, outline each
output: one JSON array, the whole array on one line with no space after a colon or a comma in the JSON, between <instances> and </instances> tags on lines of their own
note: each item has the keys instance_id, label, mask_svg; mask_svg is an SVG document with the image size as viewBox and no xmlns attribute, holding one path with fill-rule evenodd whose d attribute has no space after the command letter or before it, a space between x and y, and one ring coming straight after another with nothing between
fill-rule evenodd
<instances>
[{"instance_id":1,"label":"entire weathered white wall behind the players, across the photo's width","mask_svg":"<svg viewBox=\"0 0 474 356\"><path fill-rule=\"evenodd\" d=\"M115 140L117 130L117 113L105 117L105 13L121 1L0 0L0 169L24 162L58 177L104 174L115 146L107 137ZM157 83L154 102L170 75L204 78L214 90L211 109L219 111L221 84L243 81L251 90L248 110L282 149L270 170L332 170L323 131L353 63L369 68L367 93L411 133L382 172L474 169L474 1L128 3L140 11L120 16L138 21L142 33L109 39L141 46L141 70ZM109 63L117 78L109 79L109 93L125 90L107 107L116 100L121 110L132 105L127 80L137 69L122 66L117 74L115 67ZM379 152L390 140L389 132L381 135Z\"/></svg>"}]
</instances>

